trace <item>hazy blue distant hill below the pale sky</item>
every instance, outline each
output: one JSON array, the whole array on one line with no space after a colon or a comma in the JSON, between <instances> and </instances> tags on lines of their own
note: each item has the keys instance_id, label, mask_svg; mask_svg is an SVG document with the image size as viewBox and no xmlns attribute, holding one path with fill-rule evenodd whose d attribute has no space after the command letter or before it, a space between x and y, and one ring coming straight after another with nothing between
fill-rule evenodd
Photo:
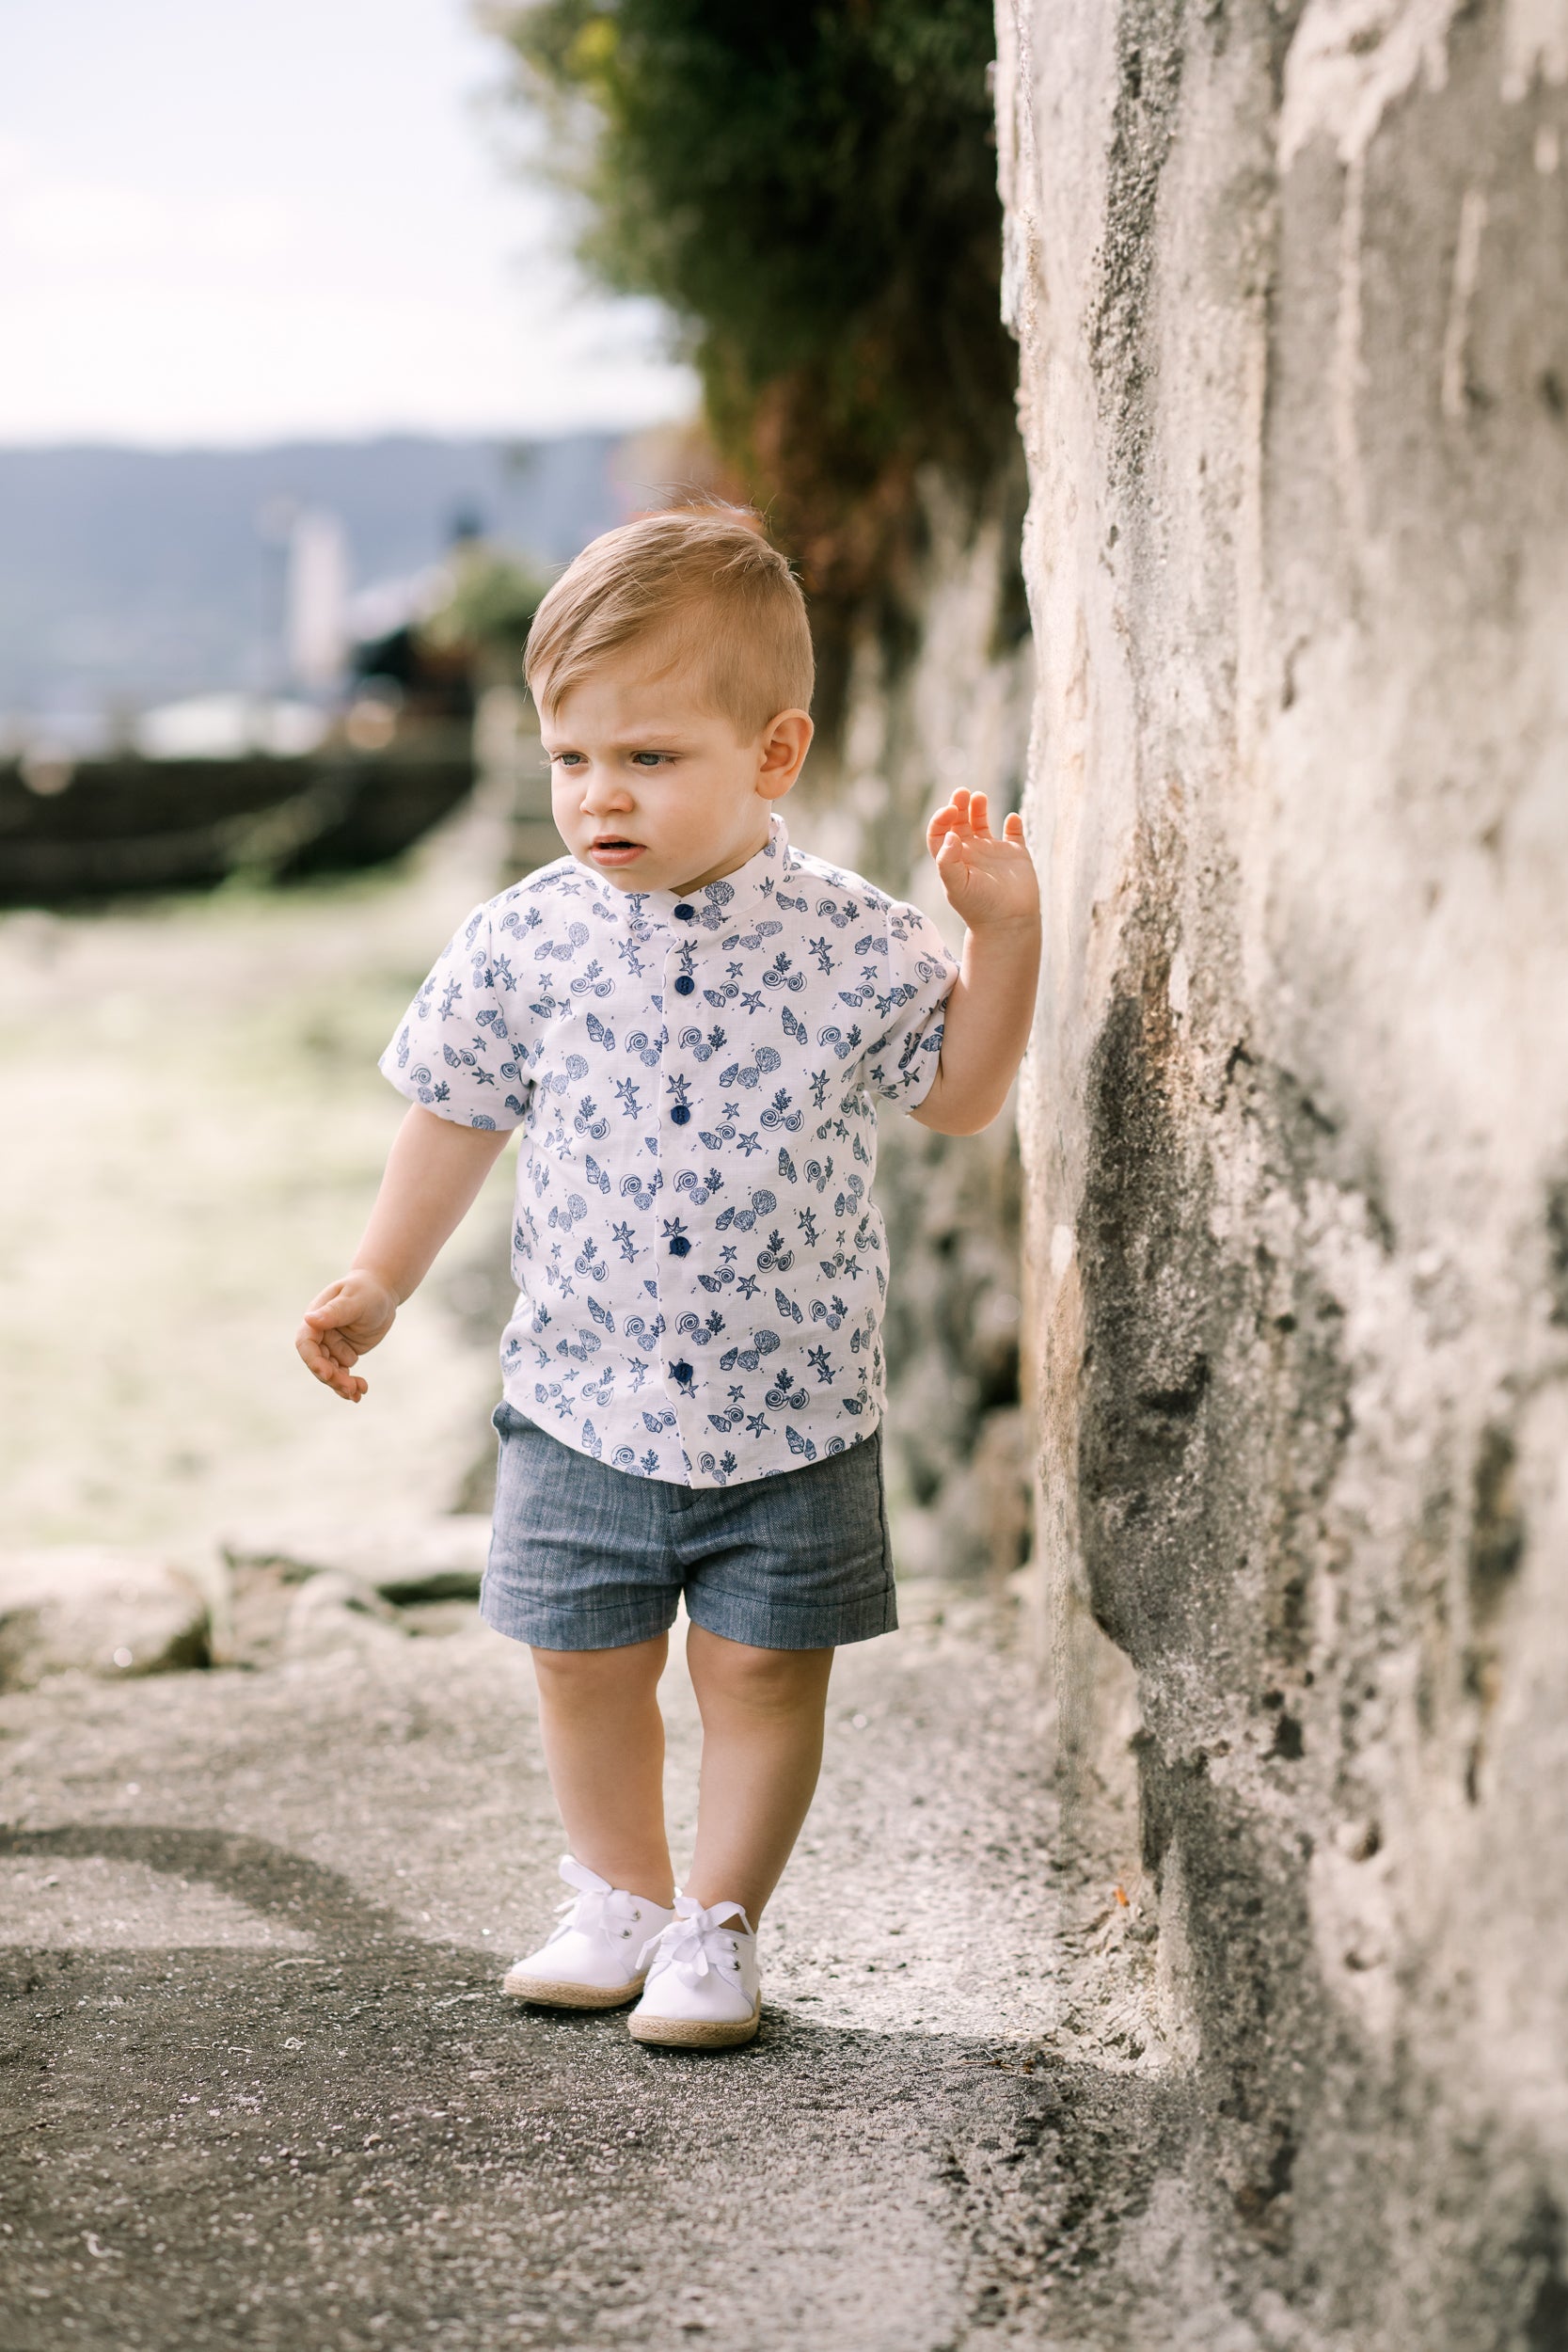
<instances>
[{"instance_id":1,"label":"hazy blue distant hill below the pale sky","mask_svg":"<svg viewBox=\"0 0 1568 2352\"><path fill-rule=\"evenodd\" d=\"M461 515L548 564L618 522L609 433L275 449L0 449L0 717L282 682L287 501L329 508L353 586L435 562ZM270 536L268 536L270 534Z\"/></svg>"}]
</instances>

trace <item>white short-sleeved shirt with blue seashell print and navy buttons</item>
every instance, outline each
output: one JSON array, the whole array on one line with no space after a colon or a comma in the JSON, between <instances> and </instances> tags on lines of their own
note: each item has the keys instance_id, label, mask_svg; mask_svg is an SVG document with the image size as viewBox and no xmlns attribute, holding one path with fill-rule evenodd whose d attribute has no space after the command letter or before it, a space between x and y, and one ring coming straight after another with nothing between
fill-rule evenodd
<instances>
[{"instance_id":1,"label":"white short-sleeved shirt with blue seashell print and navy buttons","mask_svg":"<svg viewBox=\"0 0 1568 2352\"><path fill-rule=\"evenodd\" d=\"M463 922L383 1073L520 1127L508 1402L639 1477L726 1486L882 1418L877 1103L924 1101L936 924L771 837L689 896L557 858Z\"/></svg>"}]
</instances>

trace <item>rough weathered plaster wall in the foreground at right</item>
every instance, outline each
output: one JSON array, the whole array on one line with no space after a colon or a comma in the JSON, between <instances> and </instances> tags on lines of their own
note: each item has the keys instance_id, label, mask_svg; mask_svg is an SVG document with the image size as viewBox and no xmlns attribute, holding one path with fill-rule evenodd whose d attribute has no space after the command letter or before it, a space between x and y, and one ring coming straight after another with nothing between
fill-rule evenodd
<instances>
[{"instance_id":1,"label":"rough weathered plaster wall in the foreground at right","mask_svg":"<svg viewBox=\"0 0 1568 2352\"><path fill-rule=\"evenodd\" d=\"M1568 9L1001 0L999 59L1060 1762L1255 2340L1547 2352Z\"/></svg>"}]
</instances>

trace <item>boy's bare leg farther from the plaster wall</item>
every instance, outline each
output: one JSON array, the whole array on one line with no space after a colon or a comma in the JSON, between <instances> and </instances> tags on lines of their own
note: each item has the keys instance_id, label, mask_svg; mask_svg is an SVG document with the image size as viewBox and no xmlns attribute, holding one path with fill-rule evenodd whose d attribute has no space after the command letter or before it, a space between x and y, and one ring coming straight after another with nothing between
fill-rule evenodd
<instances>
[{"instance_id":1,"label":"boy's bare leg farther from the plaster wall","mask_svg":"<svg viewBox=\"0 0 1568 2352\"><path fill-rule=\"evenodd\" d=\"M665 1724L658 1677L670 1642L536 1649L538 1726L550 1788L578 1863L665 1910L675 1900L665 1839Z\"/></svg>"}]
</instances>

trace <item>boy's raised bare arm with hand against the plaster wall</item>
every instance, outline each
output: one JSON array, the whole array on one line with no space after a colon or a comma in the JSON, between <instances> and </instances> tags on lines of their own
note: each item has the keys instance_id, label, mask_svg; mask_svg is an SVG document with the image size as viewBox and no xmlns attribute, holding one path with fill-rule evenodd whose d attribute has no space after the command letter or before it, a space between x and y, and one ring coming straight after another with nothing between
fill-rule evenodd
<instances>
[{"instance_id":1,"label":"boy's raised bare arm with hand against the plaster wall","mask_svg":"<svg viewBox=\"0 0 1568 2352\"><path fill-rule=\"evenodd\" d=\"M954 793L926 828L947 903L969 927L943 1018L931 1091L910 1112L938 1136L973 1136L1006 1101L1034 1021L1039 981L1039 882L1023 847L1023 818L1001 840L985 793Z\"/></svg>"}]
</instances>

